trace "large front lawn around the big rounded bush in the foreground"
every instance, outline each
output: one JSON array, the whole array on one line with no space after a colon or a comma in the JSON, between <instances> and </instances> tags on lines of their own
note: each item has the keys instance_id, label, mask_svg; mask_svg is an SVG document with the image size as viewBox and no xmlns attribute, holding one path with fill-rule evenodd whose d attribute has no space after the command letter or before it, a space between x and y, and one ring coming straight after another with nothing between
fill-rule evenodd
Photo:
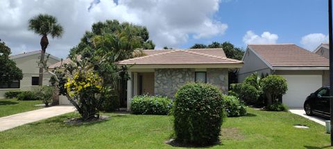
<instances>
[{"instance_id":1,"label":"large front lawn around the big rounded bush in the foreground","mask_svg":"<svg viewBox=\"0 0 333 149\"><path fill-rule=\"evenodd\" d=\"M248 109L246 117L226 119L221 143L209 148L323 148L330 145L325 127L288 112ZM69 113L0 132L0 148L175 148L164 141L173 132L172 117L111 116L107 121L68 125ZM293 128L295 124L309 129ZM208 126L207 126L208 127Z\"/></svg>"}]
</instances>

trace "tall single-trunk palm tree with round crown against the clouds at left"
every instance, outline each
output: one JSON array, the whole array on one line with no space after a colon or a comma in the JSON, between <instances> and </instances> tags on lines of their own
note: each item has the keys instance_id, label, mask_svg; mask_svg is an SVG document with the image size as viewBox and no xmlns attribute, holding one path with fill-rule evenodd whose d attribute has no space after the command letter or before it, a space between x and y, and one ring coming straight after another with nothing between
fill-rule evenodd
<instances>
[{"instance_id":1,"label":"tall single-trunk palm tree with round crown against the clouds at left","mask_svg":"<svg viewBox=\"0 0 333 149\"><path fill-rule=\"evenodd\" d=\"M64 32L62 26L57 22L56 17L49 14L38 14L28 21L28 30L32 30L35 34L40 34L42 39L40 39L40 46L42 46L42 51L40 54L40 65L44 62L44 56L47 46L49 45L49 39L47 35L51 35L52 38L61 37ZM43 83L43 67L40 67L40 78L39 86Z\"/></svg>"}]
</instances>

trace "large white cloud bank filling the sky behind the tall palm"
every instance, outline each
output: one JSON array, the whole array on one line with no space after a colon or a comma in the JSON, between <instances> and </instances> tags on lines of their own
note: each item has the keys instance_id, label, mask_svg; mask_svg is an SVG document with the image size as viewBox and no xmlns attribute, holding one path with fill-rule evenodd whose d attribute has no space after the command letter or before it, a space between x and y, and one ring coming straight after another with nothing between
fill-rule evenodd
<instances>
[{"instance_id":1,"label":"large white cloud bank filling the sky behind the tall palm","mask_svg":"<svg viewBox=\"0 0 333 149\"><path fill-rule=\"evenodd\" d=\"M94 2L94 3L93 3ZM66 57L92 23L118 19L146 26L157 48L176 48L189 38L224 34L228 25L213 19L220 0L1 0L0 38L15 54L40 49L40 37L27 30L28 19L47 13L58 18L65 29L61 39L50 39L48 52ZM223 2L223 1L222 1ZM88 11L89 8L89 11Z\"/></svg>"}]
</instances>

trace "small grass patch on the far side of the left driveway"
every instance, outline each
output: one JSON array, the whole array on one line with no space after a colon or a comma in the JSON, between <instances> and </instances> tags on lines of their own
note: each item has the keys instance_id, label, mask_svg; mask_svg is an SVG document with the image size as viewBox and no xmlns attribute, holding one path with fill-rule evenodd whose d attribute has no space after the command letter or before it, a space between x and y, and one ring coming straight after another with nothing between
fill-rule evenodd
<instances>
[{"instance_id":1,"label":"small grass patch on the far side of the left driveway","mask_svg":"<svg viewBox=\"0 0 333 149\"><path fill-rule=\"evenodd\" d=\"M42 101L18 101L17 99L0 99L0 117L44 108L43 106L34 106L41 103Z\"/></svg>"}]
</instances>

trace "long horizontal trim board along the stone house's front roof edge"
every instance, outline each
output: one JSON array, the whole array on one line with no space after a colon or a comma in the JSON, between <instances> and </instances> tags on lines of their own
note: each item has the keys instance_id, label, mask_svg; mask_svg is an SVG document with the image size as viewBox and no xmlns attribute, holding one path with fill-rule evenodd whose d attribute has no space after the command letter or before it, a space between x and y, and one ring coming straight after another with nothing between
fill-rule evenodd
<instances>
[{"instance_id":1,"label":"long horizontal trim board along the stone house's front roof edge","mask_svg":"<svg viewBox=\"0 0 333 149\"><path fill-rule=\"evenodd\" d=\"M168 65L134 65L130 70L137 68L241 68L241 64L168 64Z\"/></svg>"}]
</instances>

